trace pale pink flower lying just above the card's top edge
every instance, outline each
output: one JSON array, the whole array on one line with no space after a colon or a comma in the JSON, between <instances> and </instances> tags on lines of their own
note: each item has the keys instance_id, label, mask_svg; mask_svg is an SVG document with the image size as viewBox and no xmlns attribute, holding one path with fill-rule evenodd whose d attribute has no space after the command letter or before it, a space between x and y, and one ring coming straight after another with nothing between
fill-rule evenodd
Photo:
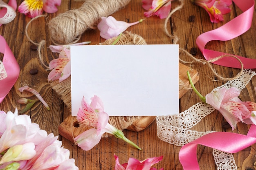
<instances>
[{"instance_id":1,"label":"pale pink flower lying just above the card's top edge","mask_svg":"<svg viewBox=\"0 0 256 170\"><path fill-rule=\"evenodd\" d=\"M109 16L108 18L101 17L101 22L99 22L98 24L98 29L99 31L101 31L100 32L101 37L108 40L124 32L128 27L138 24L142 21L143 20L141 19L137 22L127 23L124 21L117 21L112 16Z\"/></svg>"}]
</instances>

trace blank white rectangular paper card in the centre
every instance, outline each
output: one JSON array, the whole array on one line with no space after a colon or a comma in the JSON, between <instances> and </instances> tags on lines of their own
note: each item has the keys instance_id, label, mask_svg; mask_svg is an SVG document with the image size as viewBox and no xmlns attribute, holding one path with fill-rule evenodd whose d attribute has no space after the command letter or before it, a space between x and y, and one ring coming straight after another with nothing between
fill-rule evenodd
<instances>
[{"instance_id":1,"label":"blank white rectangular paper card in the centre","mask_svg":"<svg viewBox=\"0 0 256 170\"><path fill-rule=\"evenodd\" d=\"M178 45L71 46L72 116L97 95L110 116L179 113Z\"/></svg>"}]
</instances>

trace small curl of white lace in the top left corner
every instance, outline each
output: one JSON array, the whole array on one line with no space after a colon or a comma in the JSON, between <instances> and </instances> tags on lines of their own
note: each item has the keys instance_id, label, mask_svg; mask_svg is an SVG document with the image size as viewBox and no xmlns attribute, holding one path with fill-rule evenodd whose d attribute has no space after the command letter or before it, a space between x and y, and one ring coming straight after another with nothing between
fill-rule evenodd
<instances>
[{"instance_id":1,"label":"small curl of white lace in the top left corner","mask_svg":"<svg viewBox=\"0 0 256 170\"><path fill-rule=\"evenodd\" d=\"M0 24L7 24L16 17L16 11L2 0L0 0L0 9L1 8L6 8L7 12L2 18L0 18Z\"/></svg>"}]
</instances>

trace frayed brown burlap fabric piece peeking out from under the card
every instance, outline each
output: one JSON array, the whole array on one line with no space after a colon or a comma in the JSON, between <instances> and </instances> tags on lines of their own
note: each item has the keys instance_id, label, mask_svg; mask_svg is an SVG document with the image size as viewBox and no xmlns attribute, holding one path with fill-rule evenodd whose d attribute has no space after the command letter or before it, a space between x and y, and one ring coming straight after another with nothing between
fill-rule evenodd
<instances>
[{"instance_id":1,"label":"frayed brown burlap fabric piece peeking out from under the card","mask_svg":"<svg viewBox=\"0 0 256 170\"><path fill-rule=\"evenodd\" d=\"M117 37L106 40L105 42L100 43L99 45L111 45L116 39ZM126 31L121 35L120 39L116 43L116 45L132 45L132 44L141 45L141 44L146 44L146 42L141 36L137 34L132 34ZM56 91L56 93L58 93L58 95L61 96L61 99L71 111L71 77L68 77L63 82L58 82L58 80L55 80L54 82L51 83L51 86ZM109 119L109 123L115 126L116 128L123 130L123 129L127 129L135 121L141 118L142 118L141 116L112 116Z\"/></svg>"}]
</instances>

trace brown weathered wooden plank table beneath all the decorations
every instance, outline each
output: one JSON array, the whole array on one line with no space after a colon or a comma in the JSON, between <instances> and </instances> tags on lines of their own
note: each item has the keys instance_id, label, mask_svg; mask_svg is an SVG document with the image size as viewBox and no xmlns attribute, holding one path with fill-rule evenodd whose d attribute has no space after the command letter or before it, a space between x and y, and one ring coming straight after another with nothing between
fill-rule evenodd
<instances>
[{"instance_id":1,"label":"brown weathered wooden plank table beneath all the decorations","mask_svg":"<svg viewBox=\"0 0 256 170\"><path fill-rule=\"evenodd\" d=\"M7 1L8 0L4 0L4 2ZM21 2L22 0L18 0L18 5L21 4ZM31 23L28 28L30 38L37 43L41 40L46 40L46 46L48 47L51 45L52 42L50 41L47 22L56 17L58 13L63 13L69 9L78 8L82 3L83 2L73 0L63 0L61 6L58 7L58 12L49 14L47 18L38 18ZM178 5L179 2L173 1L172 9ZM128 4L124 9L112 14L112 16L114 16L117 20L135 22L141 18L144 18L143 12L144 9L141 7L141 0L131 0L130 4ZM184 7L180 11L175 12L171 17L170 21L168 22L168 30L171 33L176 33L178 38L180 38L178 44L181 48L190 51L192 47L197 47L195 40L198 35L222 26L222 24L225 24L240 13L242 13L240 9L232 4L231 13L224 16L225 21L218 24L212 24L207 12L204 11L204 9L193 5L189 0L187 0ZM195 15L194 22L189 22L190 15ZM46 71L45 68L39 64L37 59L38 52L30 49L31 43L25 35L25 27L30 20L31 19L25 17L24 14L17 12L15 20L0 27L1 35L6 39L20 65L19 79L4 101L0 104L0 110L7 112L8 110L14 111L15 108L18 108L18 110L22 109L24 106L21 106L16 102L16 100L20 97L34 99L35 96L32 96L30 93L20 93L18 91L19 87L28 85L35 88L43 96L45 101L49 104L51 110L48 111L43 104L38 102L25 114L31 117L32 122L39 124L41 129L46 130L48 133L53 132L54 135L59 135L58 125L61 124L68 116L70 116L70 111L58 94L50 86L51 82L47 81L49 71ZM172 44L172 40L164 33L163 27L164 20L153 16L147 18L140 24L130 27L128 31L141 35L146 40L147 44ZM256 19L254 18L252 28L245 34L227 42L209 42L207 44L207 49L256 59L255 37ZM99 44L105 40L99 36L99 30L94 29L88 30L83 34L80 42L83 41L91 41L91 44ZM49 61L53 59L54 56L52 56L49 49L45 49L44 53L47 55ZM160 52L159 55L161 55ZM199 52L199 49L196 57L203 58L202 54ZM185 55L180 55L180 58L183 60L191 60ZM0 59L2 60L2 55L0 55ZM29 74L29 70L31 68L37 68L38 74ZM193 68L200 74L200 80L197 84L195 84L195 86L202 93L202 95L206 95L207 93L211 92L213 88L225 83L222 80L214 81L216 80L216 77L206 65L194 64ZM239 69L236 68L227 68L217 65L213 65L213 68L216 69L216 71L223 77L234 77L239 72ZM256 79L253 77L251 82L246 86L245 89L243 89L240 99L243 101L256 102L256 93L254 91L255 86ZM200 102L199 97L197 97L197 95L190 90L180 99L180 112L188 109L197 102ZM200 123L195 126L193 130L232 132L231 128L222 128L222 124L224 122L225 119L222 117L222 115L218 111L214 111L202 119L202 121L200 121ZM238 123L236 130L233 132L247 134L248 128L248 125ZM108 137L101 139L97 146L92 148L92 150L85 152L64 137L59 136L59 139L63 142L63 146L70 150L70 157L76 160L76 165L81 170L114 169L114 154L119 156L119 161L121 163L126 163L129 157L143 160L148 157L159 157L164 155L164 159L157 163L154 167L163 167L165 170L182 169L182 165L180 164L178 158L180 147L168 144L158 139L156 121L150 124L150 126L148 126L148 128L145 130L140 132L124 130L124 134L126 137L132 141L135 141L136 144L141 146L143 150L136 150L121 139ZM234 154L236 165L239 169L254 169L253 163L256 161L255 148L256 145L254 144L253 146ZM202 170L216 169L211 152L211 148L198 146L198 161Z\"/></svg>"}]
</instances>

